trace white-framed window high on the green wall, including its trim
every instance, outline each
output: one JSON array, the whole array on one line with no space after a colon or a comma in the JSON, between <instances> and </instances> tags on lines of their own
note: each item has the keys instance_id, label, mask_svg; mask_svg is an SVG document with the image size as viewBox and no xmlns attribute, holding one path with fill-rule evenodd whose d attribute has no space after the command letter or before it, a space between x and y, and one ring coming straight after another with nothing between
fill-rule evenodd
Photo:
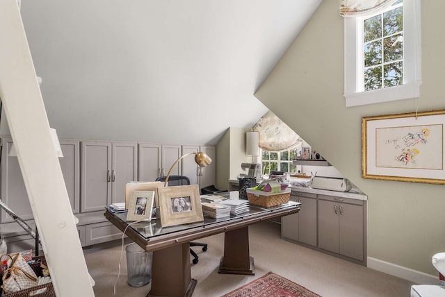
<instances>
[{"instance_id":1,"label":"white-framed window high on the green wall, including its trim","mask_svg":"<svg viewBox=\"0 0 445 297\"><path fill-rule=\"evenodd\" d=\"M420 0L344 18L346 107L420 96Z\"/></svg>"}]
</instances>

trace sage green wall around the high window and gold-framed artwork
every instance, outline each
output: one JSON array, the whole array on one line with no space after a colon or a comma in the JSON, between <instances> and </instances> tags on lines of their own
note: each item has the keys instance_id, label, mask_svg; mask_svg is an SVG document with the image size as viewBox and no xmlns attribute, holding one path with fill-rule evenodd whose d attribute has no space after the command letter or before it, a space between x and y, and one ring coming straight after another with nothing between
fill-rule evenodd
<instances>
[{"instance_id":1,"label":"sage green wall around the high window and gold-framed artwork","mask_svg":"<svg viewBox=\"0 0 445 297\"><path fill-rule=\"evenodd\" d=\"M445 1L422 1L419 110L445 109ZM414 112L414 99L345 108L343 19L323 1L255 94L272 112L369 197L368 256L437 275L431 256L445 251L444 185L361 177L362 117Z\"/></svg>"}]
</instances>

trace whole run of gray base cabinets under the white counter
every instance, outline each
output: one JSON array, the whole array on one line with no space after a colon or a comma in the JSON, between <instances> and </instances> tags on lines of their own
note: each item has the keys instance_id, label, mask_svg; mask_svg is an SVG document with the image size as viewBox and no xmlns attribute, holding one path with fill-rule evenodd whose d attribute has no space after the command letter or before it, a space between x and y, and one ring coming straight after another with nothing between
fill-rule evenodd
<instances>
[{"instance_id":1,"label":"whole run of gray base cabinets under the white counter","mask_svg":"<svg viewBox=\"0 0 445 297\"><path fill-rule=\"evenodd\" d=\"M366 266L366 200L310 191L292 190L301 209L282 217L282 238Z\"/></svg>"}]
</instances>

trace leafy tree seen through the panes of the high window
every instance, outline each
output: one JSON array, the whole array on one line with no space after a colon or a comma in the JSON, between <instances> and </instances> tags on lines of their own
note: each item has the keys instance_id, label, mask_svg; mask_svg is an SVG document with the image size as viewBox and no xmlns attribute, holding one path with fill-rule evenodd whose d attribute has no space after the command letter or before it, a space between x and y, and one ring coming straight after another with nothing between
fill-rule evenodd
<instances>
[{"instance_id":1,"label":"leafy tree seen through the panes of the high window","mask_svg":"<svg viewBox=\"0 0 445 297\"><path fill-rule=\"evenodd\" d=\"M364 90L403 85L402 0L364 19Z\"/></svg>"}]
</instances>

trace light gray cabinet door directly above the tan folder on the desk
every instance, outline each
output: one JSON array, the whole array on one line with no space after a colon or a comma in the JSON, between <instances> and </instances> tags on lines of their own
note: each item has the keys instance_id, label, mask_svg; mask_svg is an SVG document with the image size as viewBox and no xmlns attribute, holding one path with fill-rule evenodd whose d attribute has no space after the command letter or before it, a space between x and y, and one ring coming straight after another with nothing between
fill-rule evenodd
<instances>
[{"instance_id":1,"label":"light gray cabinet door directly above the tan folder on the desk","mask_svg":"<svg viewBox=\"0 0 445 297\"><path fill-rule=\"evenodd\" d=\"M139 143L138 146L138 180L152 182L163 175L162 146L148 143Z\"/></svg>"}]
</instances>

